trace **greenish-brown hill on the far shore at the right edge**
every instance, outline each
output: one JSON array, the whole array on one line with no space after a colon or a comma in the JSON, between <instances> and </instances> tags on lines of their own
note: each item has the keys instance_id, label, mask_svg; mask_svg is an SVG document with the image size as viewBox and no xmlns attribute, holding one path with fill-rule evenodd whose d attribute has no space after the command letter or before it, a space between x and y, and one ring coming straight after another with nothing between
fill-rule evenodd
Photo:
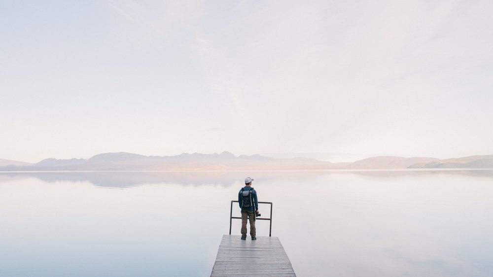
<instances>
[{"instance_id":1,"label":"greenish-brown hill on the far shore at the right edge","mask_svg":"<svg viewBox=\"0 0 493 277\"><path fill-rule=\"evenodd\" d=\"M476 155L462 158L421 162L409 168L493 168L493 155Z\"/></svg>"}]
</instances>

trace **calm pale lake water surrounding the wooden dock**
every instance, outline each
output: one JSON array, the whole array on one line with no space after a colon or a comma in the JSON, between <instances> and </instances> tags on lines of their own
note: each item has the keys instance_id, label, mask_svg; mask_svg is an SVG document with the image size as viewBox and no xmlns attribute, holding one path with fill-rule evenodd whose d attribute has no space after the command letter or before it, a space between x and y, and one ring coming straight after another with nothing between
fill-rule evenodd
<instances>
[{"instance_id":1,"label":"calm pale lake water surrounding the wooden dock","mask_svg":"<svg viewBox=\"0 0 493 277\"><path fill-rule=\"evenodd\" d=\"M493 276L484 170L0 173L0 276L209 276L246 176L298 276Z\"/></svg>"}]
</instances>

